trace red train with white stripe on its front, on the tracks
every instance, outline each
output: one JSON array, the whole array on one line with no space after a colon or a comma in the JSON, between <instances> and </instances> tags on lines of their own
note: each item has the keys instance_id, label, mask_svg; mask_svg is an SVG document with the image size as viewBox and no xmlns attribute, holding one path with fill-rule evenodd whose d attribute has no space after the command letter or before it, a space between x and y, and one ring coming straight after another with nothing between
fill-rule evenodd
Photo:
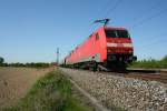
<instances>
[{"instance_id":1,"label":"red train with white stripe on its front, on the tracks","mask_svg":"<svg viewBox=\"0 0 167 111\"><path fill-rule=\"evenodd\" d=\"M130 34L125 28L100 27L63 60L72 68L122 70L136 60Z\"/></svg>"}]
</instances>

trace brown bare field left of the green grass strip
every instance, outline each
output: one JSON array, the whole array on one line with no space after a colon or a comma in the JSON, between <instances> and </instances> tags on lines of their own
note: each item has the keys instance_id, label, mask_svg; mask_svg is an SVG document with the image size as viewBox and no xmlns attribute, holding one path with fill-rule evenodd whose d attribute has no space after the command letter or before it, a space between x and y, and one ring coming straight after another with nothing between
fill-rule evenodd
<instances>
[{"instance_id":1,"label":"brown bare field left of the green grass strip","mask_svg":"<svg viewBox=\"0 0 167 111\"><path fill-rule=\"evenodd\" d=\"M40 77L52 69L1 68L0 108L14 105Z\"/></svg>"}]
</instances>

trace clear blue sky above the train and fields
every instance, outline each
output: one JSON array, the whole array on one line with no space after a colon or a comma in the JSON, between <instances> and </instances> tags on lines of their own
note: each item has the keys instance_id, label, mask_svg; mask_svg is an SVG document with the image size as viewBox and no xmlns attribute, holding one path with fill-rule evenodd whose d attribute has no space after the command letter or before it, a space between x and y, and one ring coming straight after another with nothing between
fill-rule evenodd
<instances>
[{"instance_id":1,"label":"clear blue sky above the train and fields","mask_svg":"<svg viewBox=\"0 0 167 111\"><path fill-rule=\"evenodd\" d=\"M167 0L0 0L0 57L7 62L63 58L109 18L129 30L138 59L167 54Z\"/></svg>"}]
</instances>

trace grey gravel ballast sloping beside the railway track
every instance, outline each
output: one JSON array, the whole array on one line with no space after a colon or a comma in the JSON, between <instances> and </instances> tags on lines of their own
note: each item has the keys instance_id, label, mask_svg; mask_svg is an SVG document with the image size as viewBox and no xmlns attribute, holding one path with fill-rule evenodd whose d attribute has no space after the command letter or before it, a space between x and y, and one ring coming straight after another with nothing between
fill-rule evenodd
<instances>
[{"instance_id":1,"label":"grey gravel ballast sloping beside the railway track","mask_svg":"<svg viewBox=\"0 0 167 111\"><path fill-rule=\"evenodd\" d=\"M65 68L61 70L109 109L167 111L167 84L165 83L100 72Z\"/></svg>"}]
</instances>

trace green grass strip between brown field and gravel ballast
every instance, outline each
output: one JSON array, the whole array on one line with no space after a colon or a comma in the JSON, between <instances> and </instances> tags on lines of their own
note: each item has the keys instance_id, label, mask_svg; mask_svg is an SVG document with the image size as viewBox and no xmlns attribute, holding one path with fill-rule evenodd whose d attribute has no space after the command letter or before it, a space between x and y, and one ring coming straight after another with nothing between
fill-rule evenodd
<instances>
[{"instance_id":1,"label":"green grass strip between brown field and gravel ballast","mask_svg":"<svg viewBox=\"0 0 167 111\"><path fill-rule=\"evenodd\" d=\"M4 111L89 111L72 95L71 87L61 71L49 72L37 81L18 105Z\"/></svg>"}]
</instances>

